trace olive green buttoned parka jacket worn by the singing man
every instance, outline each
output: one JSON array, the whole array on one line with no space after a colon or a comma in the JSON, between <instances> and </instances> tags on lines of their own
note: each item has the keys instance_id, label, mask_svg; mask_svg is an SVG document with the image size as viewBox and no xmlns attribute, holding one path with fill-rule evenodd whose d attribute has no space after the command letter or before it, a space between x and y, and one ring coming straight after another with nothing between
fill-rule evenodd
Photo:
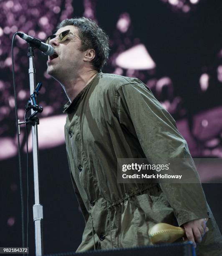
<instances>
[{"instance_id":1,"label":"olive green buttoned parka jacket worn by the singing man","mask_svg":"<svg viewBox=\"0 0 222 256\"><path fill-rule=\"evenodd\" d=\"M201 184L117 183L117 158L191 157L174 119L139 79L98 73L65 111L70 174L86 220L78 252L150 245L156 223L210 218L197 255L222 255Z\"/></svg>"}]
</instances>

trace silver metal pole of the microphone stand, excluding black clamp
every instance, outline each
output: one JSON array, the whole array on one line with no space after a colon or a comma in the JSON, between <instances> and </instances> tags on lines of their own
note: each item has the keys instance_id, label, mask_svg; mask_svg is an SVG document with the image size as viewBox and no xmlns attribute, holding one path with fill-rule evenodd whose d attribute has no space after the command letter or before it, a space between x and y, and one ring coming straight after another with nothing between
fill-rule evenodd
<instances>
[{"instance_id":1,"label":"silver metal pole of the microphone stand, excluding black clamp","mask_svg":"<svg viewBox=\"0 0 222 256\"><path fill-rule=\"evenodd\" d=\"M29 45L28 47L29 57L29 80L30 80L30 95L35 90L35 68L34 68L34 49ZM34 110L31 109L31 113ZM35 255L41 256L43 254L43 206L39 203L39 162L38 162L38 129L37 123L32 126L32 138L33 138L33 171L34 171L34 194L35 205L33 205L33 220L35 223Z\"/></svg>"}]
</instances>

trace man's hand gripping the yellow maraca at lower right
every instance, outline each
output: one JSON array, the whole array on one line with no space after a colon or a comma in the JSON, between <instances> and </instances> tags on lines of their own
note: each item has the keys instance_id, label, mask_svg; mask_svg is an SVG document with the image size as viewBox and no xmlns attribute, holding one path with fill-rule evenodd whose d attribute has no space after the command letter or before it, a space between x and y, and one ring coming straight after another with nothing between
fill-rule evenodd
<instances>
[{"instance_id":1,"label":"man's hand gripping the yellow maraca at lower right","mask_svg":"<svg viewBox=\"0 0 222 256\"><path fill-rule=\"evenodd\" d=\"M194 243L194 248L197 247L197 243L201 243L202 236L209 230L206 226L208 219L191 220L183 224L187 239Z\"/></svg>"}]
</instances>

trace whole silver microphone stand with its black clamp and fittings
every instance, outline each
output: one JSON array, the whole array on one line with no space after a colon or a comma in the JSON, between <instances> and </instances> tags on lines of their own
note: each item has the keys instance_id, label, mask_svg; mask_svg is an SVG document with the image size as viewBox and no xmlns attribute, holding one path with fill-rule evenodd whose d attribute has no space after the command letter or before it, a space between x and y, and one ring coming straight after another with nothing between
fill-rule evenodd
<instances>
[{"instance_id":1,"label":"whole silver microphone stand with its black clamp and fittings","mask_svg":"<svg viewBox=\"0 0 222 256\"><path fill-rule=\"evenodd\" d=\"M30 98L26 105L26 111L31 110L30 117L25 122L18 120L18 125L28 123L32 125L32 140L33 140L33 172L34 172L34 195L35 204L33 205L33 220L35 223L35 255L43 255L43 205L39 202L39 161L38 161L38 129L39 120L36 116L38 112L42 112L43 108L36 104L36 95L41 87L41 83L35 87L35 68L34 68L34 48L32 44L28 44L28 58L29 58L29 80L30 80ZM20 134L20 133L19 133ZM27 152L28 154L28 152Z\"/></svg>"}]
</instances>

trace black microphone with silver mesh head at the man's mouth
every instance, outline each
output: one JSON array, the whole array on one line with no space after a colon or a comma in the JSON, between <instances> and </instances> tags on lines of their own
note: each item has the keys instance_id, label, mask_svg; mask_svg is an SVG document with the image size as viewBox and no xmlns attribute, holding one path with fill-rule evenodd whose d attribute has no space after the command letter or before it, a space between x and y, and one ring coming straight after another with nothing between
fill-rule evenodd
<instances>
[{"instance_id":1,"label":"black microphone with silver mesh head at the man's mouth","mask_svg":"<svg viewBox=\"0 0 222 256\"><path fill-rule=\"evenodd\" d=\"M38 38L28 36L22 32L17 32L17 34L20 36L20 38L23 38L25 41L32 44L33 47L40 49L40 51L42 51L45 55L52 56L55 53L53 46L50 44L45 44Z\"/></svg>"}]
</instances>

